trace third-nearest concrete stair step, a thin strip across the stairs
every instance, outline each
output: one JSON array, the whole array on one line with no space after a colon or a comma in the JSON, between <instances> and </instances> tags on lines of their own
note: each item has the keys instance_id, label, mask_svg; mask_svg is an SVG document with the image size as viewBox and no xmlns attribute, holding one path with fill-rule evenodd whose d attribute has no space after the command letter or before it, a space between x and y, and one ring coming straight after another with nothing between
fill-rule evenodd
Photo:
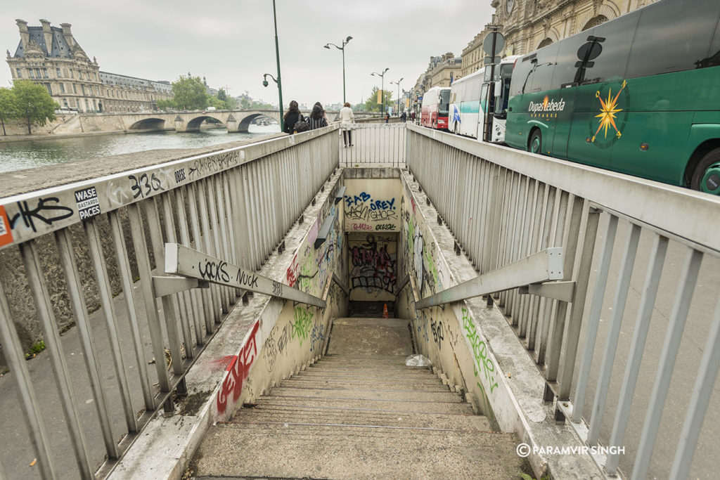
<instances>
[{"instance_id":1,"label":"third-nearest concrete stair step, a thin strip across the stairs","mask_svg":"<svg viewBox=\"0 0 720 480\"><path fill-rule=\"evenodd\" d=\"M459 398L459 397L456 397ZM266 395L257 399L262 407L303 407L315 409L354 409L378 412L420 412L440 414L472 414L472 406L466 402L403 402L402 400L311 398Z\"/></svg>"}]
</instances>

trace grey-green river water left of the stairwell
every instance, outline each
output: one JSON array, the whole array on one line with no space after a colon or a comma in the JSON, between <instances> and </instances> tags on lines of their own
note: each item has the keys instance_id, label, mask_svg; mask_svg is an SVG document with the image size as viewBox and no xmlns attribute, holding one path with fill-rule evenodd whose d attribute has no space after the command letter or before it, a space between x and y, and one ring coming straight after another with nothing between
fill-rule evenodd
<instances>
[{"instance_id":1,"label":"grey-green river water left of the stairwell","mask_svg":"<svg viewBox=\"0 0 720 480\"><path fill-rule=\"evenodd\" d=\"M202 148L218 143L247 140L279 131L279 124L274 123L269 125L253 124L250 126L250 132L247 133L228 133L224 128L216 128L186 133L147 132L24 142L0 141L0 173L158 148Z\"/></svg>"}]
</instances>

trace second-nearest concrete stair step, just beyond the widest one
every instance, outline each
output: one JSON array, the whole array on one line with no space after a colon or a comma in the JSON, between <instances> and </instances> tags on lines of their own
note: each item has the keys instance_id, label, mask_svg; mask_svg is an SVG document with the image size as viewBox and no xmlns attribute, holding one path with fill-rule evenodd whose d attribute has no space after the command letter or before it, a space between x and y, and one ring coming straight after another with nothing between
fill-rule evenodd
<instances>
[{"instance_id":1,"label":"second-nearest concrete stair step, just beyond the widest one","mask_svg":"<svg viewBox=\"0 0 720 480\"><path fill-rule=\"evenodd\" d=\"M378 412L366 409L312 408L259 405L238 410L230 423L237 424L332 424L374 427L416 427L437 430L490 431L487 418L469 414Z\"/></svg>"}]
</instances>

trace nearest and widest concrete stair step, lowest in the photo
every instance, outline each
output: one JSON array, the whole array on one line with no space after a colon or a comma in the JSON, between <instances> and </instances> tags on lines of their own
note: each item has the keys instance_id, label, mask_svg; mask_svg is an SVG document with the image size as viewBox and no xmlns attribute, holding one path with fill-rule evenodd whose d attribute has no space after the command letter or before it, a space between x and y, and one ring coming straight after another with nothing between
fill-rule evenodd
<instances>
[{"instance_id":1,"label":"nearest and widest concrete stair step, lowest in the photo","mask_svg":"<svg viewBox=\"0 0 720 480\"><path fill-rule=\"evenodd\" d=\"M503 433L219 424L199 447L195 476L517 478L523 459ZM218 458L222 453L222 459ZM482 472L482 474L480 474Z\"/></svg>"}]
</instances>

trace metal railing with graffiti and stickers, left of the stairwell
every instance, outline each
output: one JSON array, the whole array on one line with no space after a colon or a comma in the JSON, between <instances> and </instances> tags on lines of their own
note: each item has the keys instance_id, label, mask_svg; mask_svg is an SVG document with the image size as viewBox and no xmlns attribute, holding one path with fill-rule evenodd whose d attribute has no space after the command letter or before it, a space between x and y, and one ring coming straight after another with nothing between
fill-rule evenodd
<instances>
[{"instance_id":1,"label":"metal railing with graffiti and stickers, left of the stairwell","mask_svg":"<svg viewBox=\"0 0 720 480\"><path fill-rule=\"evenodd\" d=\"M152 277L164 275L164 243L258 270L337 168L336 130L0 198L0 345L10 369L0 380L13 378L4 396L20 400L3 402L9 478L33 475L18 460L31 445L6 427L9 417L27 420L43 478L89 479L103 463L98 476L109 472L156 409L173 408L184 374L242 292L213 284L166 294L158 309ZM76 325L62 338L60 317ZM24 361L17 328L32 322L52 371Z\"/></svg>"}]
</instances>

